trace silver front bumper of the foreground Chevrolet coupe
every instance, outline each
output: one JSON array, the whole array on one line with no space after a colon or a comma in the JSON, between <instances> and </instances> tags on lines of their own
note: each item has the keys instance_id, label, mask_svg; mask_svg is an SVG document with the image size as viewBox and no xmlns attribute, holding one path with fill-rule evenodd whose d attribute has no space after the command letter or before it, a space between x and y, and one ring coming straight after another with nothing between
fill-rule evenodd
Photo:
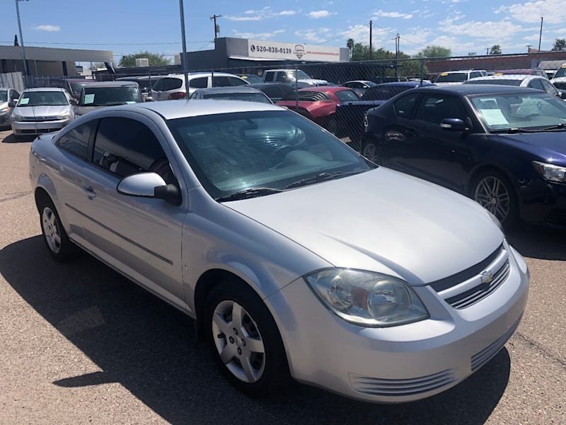
<instances>
[{"instance_id":1,"label":"silver front bumper of the foreground Chevrolet coupe","mask_svg":"<svg viewBox=\"0 0 566 425\"><path fill-rule=\"evenodd\" d=\"M309 385L369 402L410 402L453 387L487 363L519 324L529 272L509 252L509 277L463 310L430 286L414 288L430 319L389 328L349 324L327 310L302 278L267 298L291 375Z\"/></svg>"}]
</instances>

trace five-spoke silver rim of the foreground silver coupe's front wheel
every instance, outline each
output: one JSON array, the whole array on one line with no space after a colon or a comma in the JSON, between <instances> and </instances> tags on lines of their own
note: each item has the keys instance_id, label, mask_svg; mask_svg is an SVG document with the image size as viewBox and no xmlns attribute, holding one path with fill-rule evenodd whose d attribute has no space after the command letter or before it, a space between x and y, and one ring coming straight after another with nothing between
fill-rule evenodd
<instances>
[{"instance_id":1,"label":"five-spoke silver rim of the foreground silver coupe's front wheel","mask_svg":"<svg viewBox=\"0 0 566 425\"><path fill-rule=\"evenodd\" d=\"M221 361L236 378L253 383L265 370L265 346L257 324L237 302L225 300L212 314L212 336Z\"/></svg>"}]
</instances>

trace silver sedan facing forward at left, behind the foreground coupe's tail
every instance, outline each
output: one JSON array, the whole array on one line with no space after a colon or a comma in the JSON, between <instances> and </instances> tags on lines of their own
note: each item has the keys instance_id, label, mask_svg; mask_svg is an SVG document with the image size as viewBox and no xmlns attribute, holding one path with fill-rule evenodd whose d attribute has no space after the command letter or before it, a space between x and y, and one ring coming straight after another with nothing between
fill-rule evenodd
<instances>
[{"instance_id":1,"label":"silver sedan facing forward at left, behind the foreground coupe's tail","mask_svg":"<svg viewBox=\"0 0 566 425\"><path fill-rule=\"evenodd\" d=\"M10 120L14 137L55 132L74 120L76 101L64 89L26 89L21 94Z\"/></svg>"}]
</instances>

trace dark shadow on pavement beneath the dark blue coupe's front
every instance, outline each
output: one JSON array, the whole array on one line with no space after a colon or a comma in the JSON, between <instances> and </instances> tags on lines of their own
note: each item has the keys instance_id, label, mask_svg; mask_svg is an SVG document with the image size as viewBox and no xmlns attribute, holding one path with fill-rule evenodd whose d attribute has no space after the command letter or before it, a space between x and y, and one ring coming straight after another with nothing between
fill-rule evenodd
<instances>
[{"instance_id":1,"label":"dark shadow on pavement beneath the dark blue coupe's front","mask_svg":"<svg viewBox=\"0 0 566 425\"><path fill-rule=\"evenodd\" d=\"M566 231L521 224L506 234L522 256L543 260L566 260Z\"/></svg>"}]
</instances>

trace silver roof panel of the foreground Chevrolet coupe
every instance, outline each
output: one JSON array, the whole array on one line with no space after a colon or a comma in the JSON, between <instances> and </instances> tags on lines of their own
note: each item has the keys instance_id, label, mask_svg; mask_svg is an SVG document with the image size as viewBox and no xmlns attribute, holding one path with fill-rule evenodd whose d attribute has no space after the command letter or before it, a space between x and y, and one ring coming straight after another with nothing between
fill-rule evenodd
<instances>
[{"instance_id":1,"label":"silver roof panel of the foreground Chevrolet coupe","mask_svg":"<svg viewBox=\"0 0 566 425\"><path fill-rule=\"evenodd\" d=\"M202 115L215 115L219 113L236 113L249 111L286 111L285 108L271 105L269 103L247 102L247 101L216 101L208 99L199 100L174 100L159 102L135 103L125 106L112 106L110 108L120 110L131 110L131 108L143 108L154 111L166 120L175 118L197 117ZM110 108L105 108L109 110Z\"/></svg>"}]
</instances>

